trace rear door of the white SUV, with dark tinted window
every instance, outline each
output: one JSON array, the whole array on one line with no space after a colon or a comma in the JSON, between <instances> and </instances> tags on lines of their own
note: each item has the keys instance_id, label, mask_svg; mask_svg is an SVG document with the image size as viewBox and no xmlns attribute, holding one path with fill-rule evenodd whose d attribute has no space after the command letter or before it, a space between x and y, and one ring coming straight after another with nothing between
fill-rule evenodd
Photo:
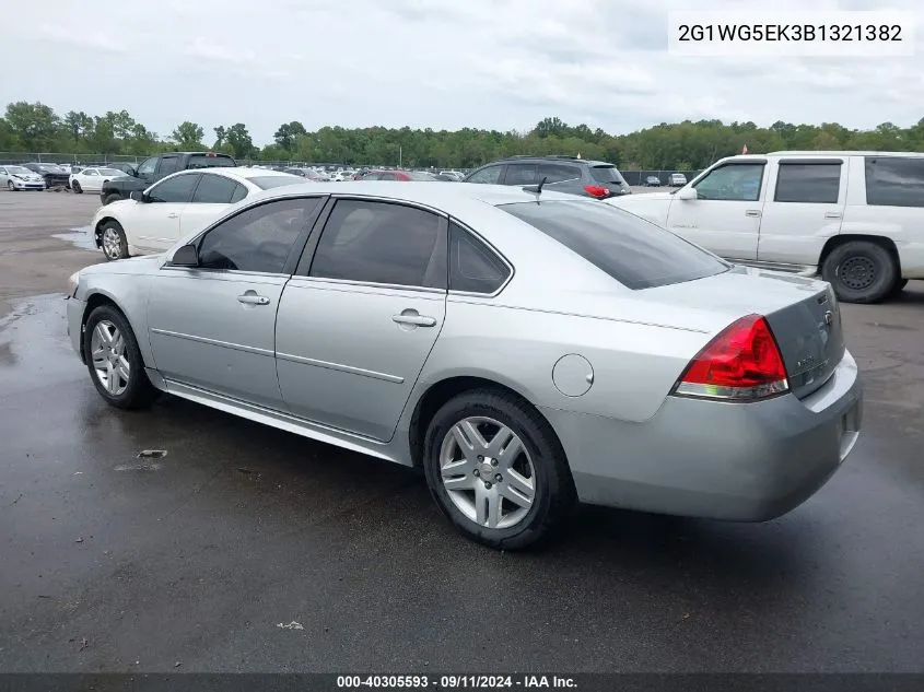
<instances>
[{"instance_id":1,"label":"rear door of the white SUV, with dark tinted window","mask_svg":"<svg viewBox=\"0 0 924 692\"><path fill-rule=\"evenodd\" d=\"M772 197L763 206L757 259L817 266L828 238L841 232L850 160L781 159L771 162Z\"/></svg>"}]
</instances>

